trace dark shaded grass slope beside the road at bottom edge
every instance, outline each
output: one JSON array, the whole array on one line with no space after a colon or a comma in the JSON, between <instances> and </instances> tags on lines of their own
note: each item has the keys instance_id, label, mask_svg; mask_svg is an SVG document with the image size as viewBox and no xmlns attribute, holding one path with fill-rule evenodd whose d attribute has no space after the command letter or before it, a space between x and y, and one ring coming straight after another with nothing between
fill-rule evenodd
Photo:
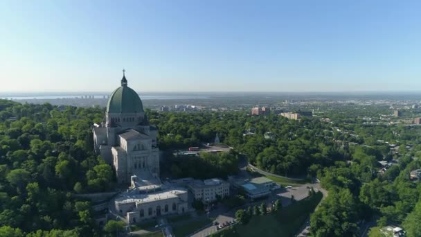
<instances>
[{"instance_id":1,"label":"dark shaded grass slope beside the road at bottom edge","mask_svg":"<svg viewBox=\"0 0 421 237\"><path fill-rule=\"evenodd\" d=\"M294 236L322 197L322 193L316 193L312 198L295 202L277 213L253 216L247 225L235 225L212 236Z\"/></svg>"}]
</instances>

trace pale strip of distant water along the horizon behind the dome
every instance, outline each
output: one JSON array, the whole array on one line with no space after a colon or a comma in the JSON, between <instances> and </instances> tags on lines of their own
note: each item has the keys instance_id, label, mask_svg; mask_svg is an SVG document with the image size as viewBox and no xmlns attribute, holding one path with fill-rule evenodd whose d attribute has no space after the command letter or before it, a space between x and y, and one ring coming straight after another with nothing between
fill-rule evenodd
<instances>
[{"instance_id":1,"label":"pale strip of distant water along the horizon behind the dome","mask_svg":"<svg viewBox=\"0 0 421 237\"><path fill-rule=\"evenodd\" d=\"M9 100L48 100L61 98L84 98L84 96L10 96L6 97ZM150 95L140 96L142 100L186 100L186 99L206 99L208 96L198 95ZM5 97L0 97L5 98ZM93 96L93 98L104 98L104 96Z\"/></svg>"}]
</instances>

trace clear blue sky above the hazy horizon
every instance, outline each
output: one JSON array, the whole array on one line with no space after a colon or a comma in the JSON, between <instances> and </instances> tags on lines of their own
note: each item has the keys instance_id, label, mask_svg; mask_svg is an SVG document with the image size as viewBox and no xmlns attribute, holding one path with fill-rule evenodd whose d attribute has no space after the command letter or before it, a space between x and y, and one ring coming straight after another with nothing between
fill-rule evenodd
<instances>
[{"instance_id":1,"label":"clear blue sky above the hazy horizon","mask_svg":"<svg viewBox=\"0 0 421 237\"><path fill-rule=\"evenodd\" d=\"M421 90L421 1L1 1L0 91Z\"/></svg>"}]
</instances>

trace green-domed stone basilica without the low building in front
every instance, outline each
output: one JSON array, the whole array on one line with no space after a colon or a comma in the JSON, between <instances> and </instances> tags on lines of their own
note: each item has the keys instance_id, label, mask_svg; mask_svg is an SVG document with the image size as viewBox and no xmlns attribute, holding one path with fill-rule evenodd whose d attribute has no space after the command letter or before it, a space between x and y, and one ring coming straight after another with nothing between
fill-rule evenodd
<instances>
[{"instance_id":1,"label":"green-domed stone basilica without the low building in front","mask_svg":"<svg viewBox=\"0 0 421 237\"><path fill-rule=\"evenodd\" d=\"M118 183L130 177L159 177L158 130L149 124L142 100L127 86L123 73L121 87L109 96L101 125L93 128L95 150L116 170Z\"/></svg>"}]
</instances>

